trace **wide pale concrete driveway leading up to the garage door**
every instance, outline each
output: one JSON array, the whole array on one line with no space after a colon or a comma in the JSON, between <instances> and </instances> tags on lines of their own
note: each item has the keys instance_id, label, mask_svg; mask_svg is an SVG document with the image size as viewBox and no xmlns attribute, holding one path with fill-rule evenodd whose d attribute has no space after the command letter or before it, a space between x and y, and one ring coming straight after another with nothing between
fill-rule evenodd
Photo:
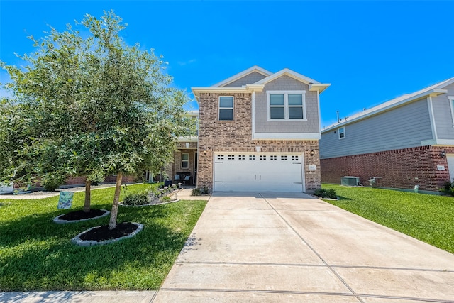
<instances>
[{"instance_id":1,"label":"wide pale concrete driveway leading up to the garage door","mask_svg":"<svg viewBox=\"0 0 454 303\"><path fill-rule=\"evenodd\" d=\"M306 194L216 192L153 302L454 302L454 255Z\"/></svg>"}]
</instances>

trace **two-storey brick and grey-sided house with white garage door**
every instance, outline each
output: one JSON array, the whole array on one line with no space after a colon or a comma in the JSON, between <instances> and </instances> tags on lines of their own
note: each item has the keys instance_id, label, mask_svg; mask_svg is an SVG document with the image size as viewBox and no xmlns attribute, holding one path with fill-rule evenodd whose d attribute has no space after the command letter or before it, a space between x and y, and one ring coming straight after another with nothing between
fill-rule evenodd
<instances>
[{"instance_id":1,"label":"two-storey brick and grey-sided house with white garage door","mask_svg":"<svg viewBox=\"0 0 454 303\"><path fill-rule=\"evenodd\" d=\"M329 85L254 66L192 87L198 138L180 139L172 176L189 172L197 187L214 191L314 192L321 187L319 95Z\"/></svg>"}]
</instances>

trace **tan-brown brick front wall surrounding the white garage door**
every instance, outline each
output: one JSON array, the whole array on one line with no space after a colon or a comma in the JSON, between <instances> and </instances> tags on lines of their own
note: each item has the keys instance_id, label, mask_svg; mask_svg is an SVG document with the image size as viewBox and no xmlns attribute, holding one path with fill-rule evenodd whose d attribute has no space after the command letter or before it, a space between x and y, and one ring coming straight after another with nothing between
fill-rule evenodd
<instances>
[{"instance_id":1,"label":"tan-brown brick front wall surrounding the white garage door","mask_svg":"<svg viewBox=\"0 0 454 303\"><path fill-rule=\"evenodd\" d=\"M218 97L233 96L233 121L218 121ZM251 94L200 94L199 98L199 170L197 187L213 186L213 154L216 152L250 152L260 146L263 153L302 153L306 176L306 191L311 192L321 186L319 162L319 141L297 140L252 140ZM206 155L204 155L206 150ZM316 155L311 156L314 150ZM308 170L308 165L316 165L316 170Z\"/></svg>"}]
</instances>

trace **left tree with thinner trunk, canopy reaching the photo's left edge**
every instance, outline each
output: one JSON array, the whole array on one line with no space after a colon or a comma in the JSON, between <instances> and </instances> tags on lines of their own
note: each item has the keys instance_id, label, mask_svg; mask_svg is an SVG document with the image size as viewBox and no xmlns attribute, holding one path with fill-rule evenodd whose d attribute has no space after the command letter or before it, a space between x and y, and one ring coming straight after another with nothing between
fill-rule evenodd
<instances>
[{"instance_id":1,"label":"left tree with thinner trunk, canopy reaching the photo's left edge","mask_svg":"<svg viewBox=\"0 0 454 303\"><path fill-rule=\"evenodd\" d=\"M93 38L82 39L71 26L29 38L36 50L19 56L28 62L25 70L1 62L11 76L6 87L13 97L4 100L1 112L0 178L30 183L39 177L41 184L61 184L67 175L87 176L84 211L89 211L90 180L99 177L101 163L87 155L88 142L76 141L87 134L78 119L84 115L78 103L93 89L88 85ZM77 157L81 149L83 160Z\"/></svg>"}]
</instances>

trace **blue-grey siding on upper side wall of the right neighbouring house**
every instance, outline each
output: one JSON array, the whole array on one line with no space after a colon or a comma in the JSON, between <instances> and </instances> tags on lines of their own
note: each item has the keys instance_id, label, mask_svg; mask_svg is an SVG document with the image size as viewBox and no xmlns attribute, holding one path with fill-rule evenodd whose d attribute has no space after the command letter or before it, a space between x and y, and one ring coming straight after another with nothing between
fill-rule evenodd
<instances>
[{"instance_id":1,"label":"blue-grey siding on upper side wall of the right neighbouring house","mask_svg":"<svg viewBox=\"0 0 454 303\"><path fill-rule=\"evenodd\" d=\"M421 141L431 139L428 102L421 99L345 125L345 138L341 140L338 139L338 128L323 132L320 158L421 146Z\"/></svg>"}]
</instances>

